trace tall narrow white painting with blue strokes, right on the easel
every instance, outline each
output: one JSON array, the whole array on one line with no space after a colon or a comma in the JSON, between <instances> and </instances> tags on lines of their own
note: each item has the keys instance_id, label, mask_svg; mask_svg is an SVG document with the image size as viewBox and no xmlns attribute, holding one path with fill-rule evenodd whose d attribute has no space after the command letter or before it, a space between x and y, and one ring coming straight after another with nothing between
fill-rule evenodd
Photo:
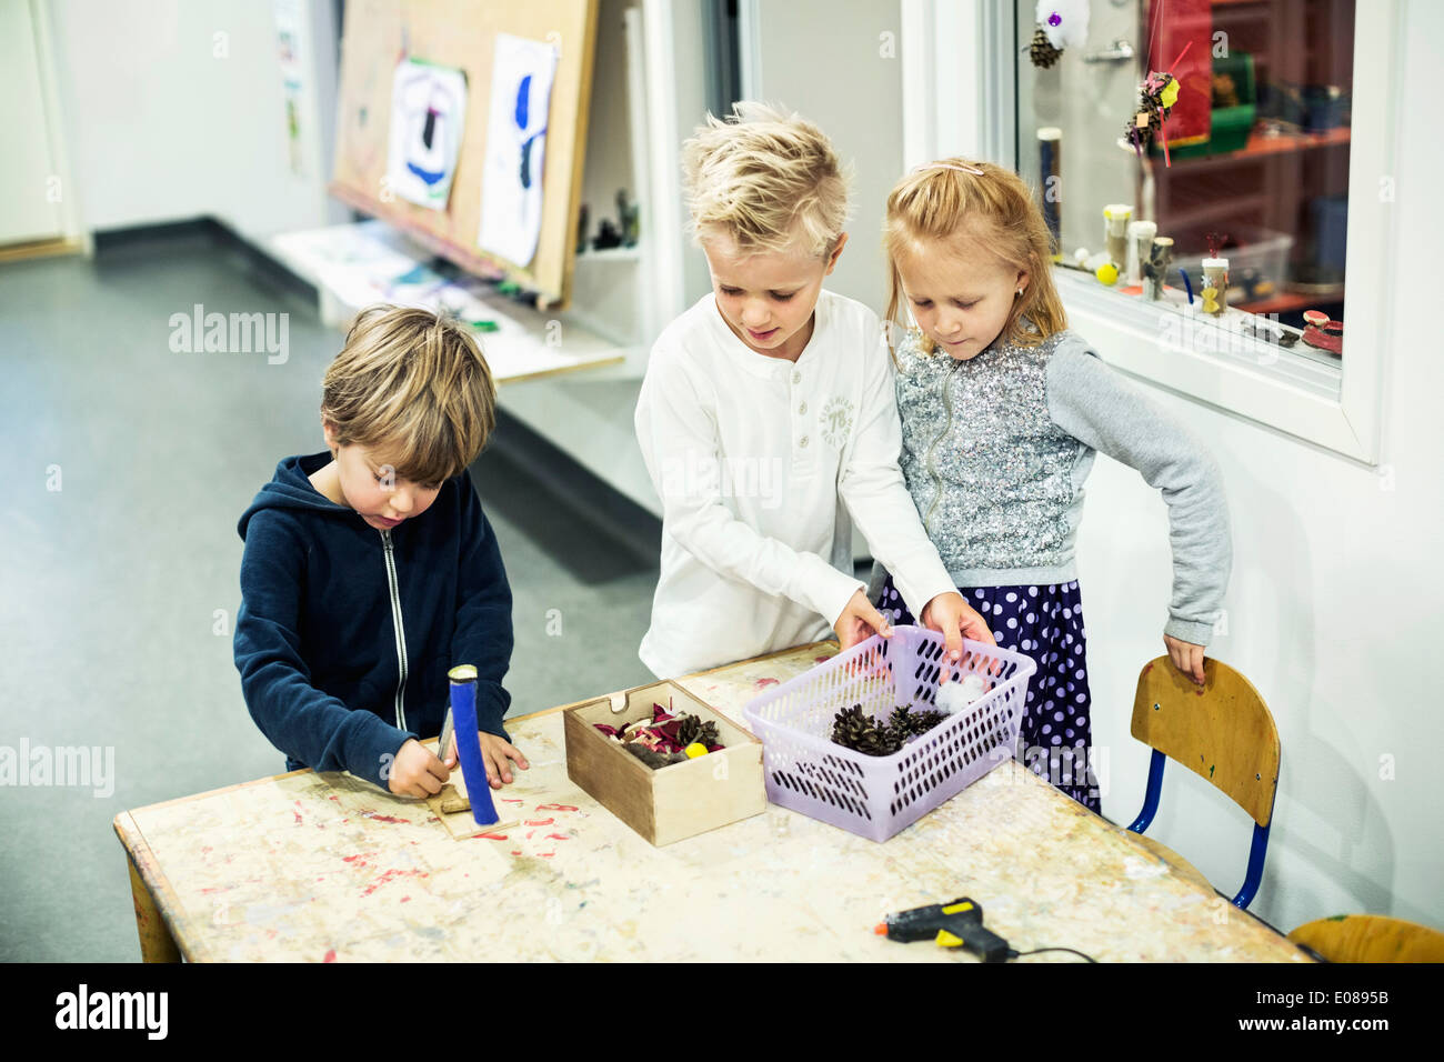
<instances>
[{"instance_id":1,"label":"tall narrow white painting with blue strokes, right on the easel","mask_svg":"<svg viewBox=\"0 0 1444 1062\"><path fill-rule=\"evenodd\" d=\"M477 243L518 266L531 262L542 234L542 160L554 75L550 45L497 35Z\"/></svg>"}]
</instances>

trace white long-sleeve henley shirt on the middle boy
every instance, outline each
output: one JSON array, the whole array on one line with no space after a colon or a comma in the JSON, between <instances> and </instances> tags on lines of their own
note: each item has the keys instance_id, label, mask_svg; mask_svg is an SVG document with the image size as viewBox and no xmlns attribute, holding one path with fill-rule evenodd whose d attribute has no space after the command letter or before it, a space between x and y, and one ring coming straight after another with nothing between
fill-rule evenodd
<instances>
[{"instance_id":1,"label":"white long-sleeve henley shirt on the middle boy","mask_svg":"<svg viewBox=\"0 0 1444 1062\"><path fill-rule=\"evenodd\" d=\"M898 468L877 314L823 290L797 361L747 347L709 293L651 350L637 439L663 503L640 656L674 678L830 636L865 584L852 520L914 616L953 591Z\"/></svg>"}]
</instances>

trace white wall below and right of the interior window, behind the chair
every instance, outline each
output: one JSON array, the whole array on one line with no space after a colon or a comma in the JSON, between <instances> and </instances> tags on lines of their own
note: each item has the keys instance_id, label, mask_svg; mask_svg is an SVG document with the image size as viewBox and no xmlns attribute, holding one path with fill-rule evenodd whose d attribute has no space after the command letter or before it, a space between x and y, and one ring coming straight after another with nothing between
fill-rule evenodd
<instances>
[{"instance_id":1,"label":"white wall below and right of the interior window, behind the chair","mask_svg":"<svg viewBox=\"0 0 1444 1062\"><path fill-rule=\"evenodd\" d=\"M1432 761L1444 747L1434 665L1444 617L1444 361L1441 344L1425 338L1444 246L1434 194L1444 150L1432 118L1411 103L1432 91L1444 7L1411 3L1404 17L1392 312L1396 334L1414 341L1385 354L1379 468L1139 384L1223 467L1235 569L1227 634L1210 655L1249 676L1278 722L1278 805L1252 909L1285 931L1340 912L1444 925L1444 785ZM1162 652L1170 585L1162 501L1131 470L1099 461L1079 558L1095 741L1112 767L1103 806L1128 822L1142 805L1148 759L1128 733L1132 691L1142 662ZM1149 834L1232 894L1249 844L1243 812L1177 766L1161 806Z\"/></svg>"}]
</instances>

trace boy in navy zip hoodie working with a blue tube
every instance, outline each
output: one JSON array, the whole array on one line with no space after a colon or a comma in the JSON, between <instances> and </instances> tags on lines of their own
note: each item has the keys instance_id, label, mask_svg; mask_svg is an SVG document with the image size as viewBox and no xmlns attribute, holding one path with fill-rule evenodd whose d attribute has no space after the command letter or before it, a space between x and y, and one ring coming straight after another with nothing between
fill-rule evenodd
<instances>
[{"instance_id":1,"label":"boy in navy zip hoodie working with a blue tube","mask_svg":"<svg viewBox=\"0 0 1444 1062\"><path fill-rule=\"evenodd\" d=\"M289 457L238 530L235 666L286 769L348 770L403 796L440 792L455 744L446 672L477 668L492 787L527 767L501 720L511 587L466 467L495 426L491 371L465 327L371 306L326 370L329 452Z\"/></svg>"}]
</instances>

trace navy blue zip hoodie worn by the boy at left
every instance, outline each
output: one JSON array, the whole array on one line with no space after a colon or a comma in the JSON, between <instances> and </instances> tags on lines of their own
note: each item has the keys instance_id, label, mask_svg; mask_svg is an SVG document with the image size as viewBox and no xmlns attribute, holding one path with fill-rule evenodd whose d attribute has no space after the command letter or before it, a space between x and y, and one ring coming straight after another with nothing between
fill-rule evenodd
<instances>
[{"instance_id":1,"label":"navy blue zip hoodie worn by the boy at left","mask_svg":"<svg viewBox=\"0 0 1444 1062\"><path fill-rule=\"evenodd\" d=\"M510 741L511 587L471 480L381 532L310 485L329 461L283 459L237 527L235 668L256 725L287 770L384 789L406 740L440 733L448 669L472 663L478 725Z\"/></svg>"}]
</instances>

